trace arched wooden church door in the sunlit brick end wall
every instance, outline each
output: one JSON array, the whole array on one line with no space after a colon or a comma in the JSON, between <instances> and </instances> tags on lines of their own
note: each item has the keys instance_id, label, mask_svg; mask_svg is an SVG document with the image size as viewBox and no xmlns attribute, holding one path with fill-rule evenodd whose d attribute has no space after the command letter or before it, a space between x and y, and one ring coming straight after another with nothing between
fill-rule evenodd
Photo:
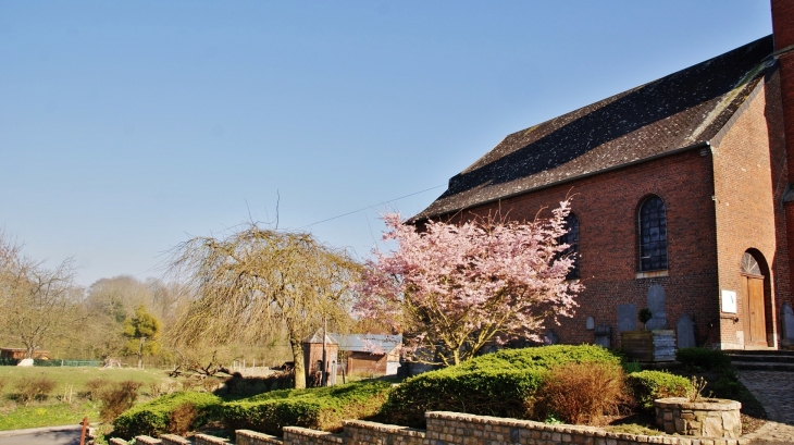
<instances>
[{"instance_id":1,"label":"arched wooden church door in the sunlit brick end wall","mask_svg":"<svg viewBox=\"0 0 794 445\"><path fill-rule=\"evenodd\" d=\"M742 281L744 284L745 345L767 345L767 318L764 305L764 275L758 262L750 254L742 258Z\"/></svg>"}]
</instances>

